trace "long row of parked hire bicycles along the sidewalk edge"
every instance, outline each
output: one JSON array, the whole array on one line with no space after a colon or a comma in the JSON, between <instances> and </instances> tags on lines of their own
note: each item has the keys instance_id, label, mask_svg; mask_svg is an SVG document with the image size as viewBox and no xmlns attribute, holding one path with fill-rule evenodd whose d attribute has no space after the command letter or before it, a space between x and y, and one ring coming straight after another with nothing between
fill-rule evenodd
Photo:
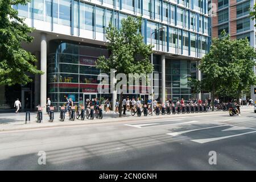
<instances>
[{"instance_id":1,"label":"long row of parked hire bicycles along the sidewalk edge","mask_svg":"<svg viewBox=\"0 0 256 182\"><path fill-rule=\"evenodd\" d=\"M76 119L84 120L87 119L102 119L103 118L103 108L102 106L59 106L60 107L60 121L64 121L65 114L68 113L68 117L70 121L74 121ZM203 113L207 112L209 109L209 106L206 104L162 104L162 105L155 105L153 112L155 115L164 115L164 114L180 114L180 113ZM43 107L38 106L38 115L37 115L37 122L41 122L43 119L42 115ZM53 114L54 107L49 107L48 109L48 116L49 121L53 122L54 114ZM228 111L227 104L221 104L216 106L216 110L223 110ZM144 116L151 115L152 109L151 105L135 105L131 107L130 109L131 115L137 114L138 117L141 117L143 114Z\"/></svg>"}]
</instances>

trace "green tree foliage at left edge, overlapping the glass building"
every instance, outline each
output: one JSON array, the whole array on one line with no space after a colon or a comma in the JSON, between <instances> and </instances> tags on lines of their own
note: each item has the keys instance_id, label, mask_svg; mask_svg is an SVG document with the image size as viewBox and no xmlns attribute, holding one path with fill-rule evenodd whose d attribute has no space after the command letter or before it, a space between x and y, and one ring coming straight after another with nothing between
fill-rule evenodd
<instances>
[{"instance_id":1,"label":"green tree foliage at left edge, overlapping the glass building","mask_svg":"<svg viewBox=\"0 0 256 182\"><path fill-rule=\"evenodd\" d=\"M28 34L34 28L28 27L18 11L11 5L26 5L28 0L0 0L0 84L27 84L32 79L27 73L43 74L36 69L35 56L25 51L21 43L31 43Z\"/></svg>"}]
</instances>

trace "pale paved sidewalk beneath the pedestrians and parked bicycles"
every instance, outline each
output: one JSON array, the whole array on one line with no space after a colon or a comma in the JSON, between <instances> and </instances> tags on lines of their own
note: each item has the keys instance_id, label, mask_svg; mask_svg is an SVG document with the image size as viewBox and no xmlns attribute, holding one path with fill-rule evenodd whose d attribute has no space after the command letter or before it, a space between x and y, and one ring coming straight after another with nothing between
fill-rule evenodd
<instances>
[{"instance_id":1,"label":"pale paved sidewalk beneath the pedestrians and parked bicycles","mask_svg":"<svg viewBox=\"0 0 256 182\"><path fill-rule=\"evenodd\" d=\"M241 113L253 112L253 107L243 106L241 107ZM80 119L75 119L75 121L69 121L68 115L66 114L64 122L59 121L60 113L54 113L54 121L49 122L48 115L43 114L42 123L36 122L36 113L30 113L30 121L25 123L26 113L3 113L0 114L0 131L10 131L10 130L23 130L23 129L36 129L36 128L44 128L44 127L57 127L57 126L76 126L76 125L91 125L95 123L110 123L110 122L124 122L124 121L136 121L142 119L159 119L159 118L177 118L177 117L188 117L188 116L197 116L197 115L211 115L211 114L228 114L228 111L207 111L207 113L189 113L189 114L170 114L170 115L147 115L144 117L143 113L141 117L137 117L137 115L132 116L130 112L127 112L126 115L122 115L119 118L119 114L105 113L103 115L103 119L94 118L93 120L85 118L84 121Z\"/></svg>"}]
</instances>

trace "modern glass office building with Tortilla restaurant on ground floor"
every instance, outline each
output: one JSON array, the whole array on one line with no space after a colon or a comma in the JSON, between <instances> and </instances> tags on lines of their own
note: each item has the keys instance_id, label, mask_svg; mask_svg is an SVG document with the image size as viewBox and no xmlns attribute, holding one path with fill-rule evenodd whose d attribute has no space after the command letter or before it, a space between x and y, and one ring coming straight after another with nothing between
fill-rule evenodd
<instances>
[{"instance_id":1,"label":"modern glass office building with Tortilla restaurant on ground floor","mask_svg":"<svg viewBox=\"0 0 256 182\"><path fill-rule=\"evenodd\" d=\"M105 28L109 23L121 28L121 20L129 15L142 16L146 44L156 31L152 43L155 72L160 75L158 100L191 98L188 78L192 64L209 51L207 0L32 0L13 8L26 18L28 26L36 28L34 42L24 48L38 57L38 66L46 73L32 75L31 86L22 86L19 91L23 94L14 96L14 100L18 97L25 102L26 93L32 93L27 109L46 104L47 97L55 106L63 103L64 96L77 103L85 98L111 97L96 92L100 70L95 61L100 55L109 55ZM157 31L160 27L164 29ZM200 72L196 73L200 78ZM7 95L2 95L6 101ZM8 105L9 101L0 109L8 109Z\"/></svg>"}]
</instances>

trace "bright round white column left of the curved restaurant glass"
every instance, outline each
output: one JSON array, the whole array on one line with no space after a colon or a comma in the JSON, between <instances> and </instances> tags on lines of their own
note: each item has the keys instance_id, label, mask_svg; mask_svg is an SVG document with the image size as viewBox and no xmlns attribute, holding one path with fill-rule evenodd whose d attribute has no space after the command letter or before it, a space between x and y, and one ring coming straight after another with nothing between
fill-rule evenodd
<instances>
[{"instance_id":1,"label":"bright round white column left of the curved restaurant glass","mask_svg":"<svg viewBox=\"0 0 256 182\"><path fill-rule=\"evenodd\" d=\"M40 69L43 73L41 75L40 80L40 105L46 106L46 100L47 100L47 39L46 34L41 34L41 59L40 59ZM44 109L46 111L46 109Z\"/></svg>"}]
</instances>

